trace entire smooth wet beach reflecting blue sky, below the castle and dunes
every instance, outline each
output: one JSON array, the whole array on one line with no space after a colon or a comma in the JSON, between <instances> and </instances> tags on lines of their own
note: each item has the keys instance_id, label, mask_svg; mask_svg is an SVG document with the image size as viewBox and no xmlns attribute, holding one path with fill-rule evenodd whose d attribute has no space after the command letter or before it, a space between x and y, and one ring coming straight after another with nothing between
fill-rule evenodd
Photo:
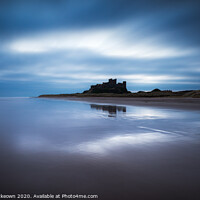
<instances>
[{"instance_id":1,"label":"entire smooth wet beach reflecting blue sky, below the castle and dunes","mask_svg":"<svg viewBox=\"0 0 200 200\"><path fill-rule=\"evenodd\" d=\"M1 194L199 200L199 100L146 100L0 98Z\"/></svg>"}]
</instances>

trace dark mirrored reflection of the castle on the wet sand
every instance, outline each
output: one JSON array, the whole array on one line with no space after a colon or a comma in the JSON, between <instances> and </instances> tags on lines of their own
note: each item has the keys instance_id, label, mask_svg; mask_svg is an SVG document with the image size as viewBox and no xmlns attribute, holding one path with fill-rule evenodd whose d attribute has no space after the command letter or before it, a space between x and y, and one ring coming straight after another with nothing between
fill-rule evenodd
<instances>
[{"instance_id":1,"label":"dark mirrored reflection of the castle on the wet sand","mask_svg":"<svg viewBox=\"0 0 200 200\"><path fill-rule=\"evenodd\" d=\"M97 104L90 104L92 109L102 110L103 112L108 112L109 117L115 117L117 112L126 112L125 106L111 106L111 105L97 105Z\"/></svg>"}]
</instances>

